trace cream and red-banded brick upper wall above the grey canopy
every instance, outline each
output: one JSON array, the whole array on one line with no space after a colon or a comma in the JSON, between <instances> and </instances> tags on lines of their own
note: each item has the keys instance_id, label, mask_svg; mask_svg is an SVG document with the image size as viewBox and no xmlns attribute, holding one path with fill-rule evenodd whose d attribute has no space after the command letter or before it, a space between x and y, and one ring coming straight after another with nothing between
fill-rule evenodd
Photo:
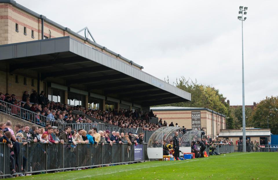
<instances>
[{"instance_id":1,"label":"cream and red-banded brick upper wall above the grey canopy","mask_svg":"<svg viewBox=\"0 0 278 180\"><path fill-rule=\"evenodd\" d=\"M10 43L18 43L25 41L34 41L41 39L41 20L27 12L24 12L9 3L0 3L0 45L1 44L10 44ZM18 24L19 32L15 30L15 24ZM24 35L24 27L27 28L26 34ZM32 38L32 30L34 30L34 38ZM108 54L124 63L130 64L125 60L116 57L114 54L106 52L105 50L94 46L93 44L80 39L73 34L68 34L63 29L58 28L46 21L44 21L44 36L50 37L63 37L70 35L74 39L81 41L83 43L88 44L98 50L103 51L105 54ZM137 69L140 69L136 66L133 66Z\"/></svg>"}]
</instances>

